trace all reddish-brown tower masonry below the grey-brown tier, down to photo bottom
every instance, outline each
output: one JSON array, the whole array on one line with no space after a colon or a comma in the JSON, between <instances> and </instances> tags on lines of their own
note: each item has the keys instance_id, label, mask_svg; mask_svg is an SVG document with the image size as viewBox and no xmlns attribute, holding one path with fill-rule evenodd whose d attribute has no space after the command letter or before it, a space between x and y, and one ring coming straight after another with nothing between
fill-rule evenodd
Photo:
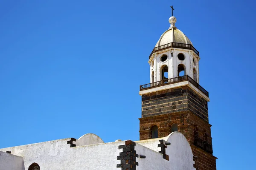
<instances>
[{"instance_id":1,"label":"all reddish-brown tower masonry below the grey-brown tier, down to photo bottom","mask_svg":"<svg viewBox=\"0 0 256 170\"><path fill-rule=\"evenodd\" d=\"M204 119L196 116L192 111L140 118L140 140L151 139L151 127L154 125L158 127L158 137L168 136L172 133L171 126L175 123L178 125L178 131L183 133L191 145L194 156L198 156L195 159L195 168L197 170L216 170L216 157L194 145L195 127L198 129L198 137L202 141L212 144L211 125ZM207 138L205 134L207 134Z\"/></svg>"}]
</instances>

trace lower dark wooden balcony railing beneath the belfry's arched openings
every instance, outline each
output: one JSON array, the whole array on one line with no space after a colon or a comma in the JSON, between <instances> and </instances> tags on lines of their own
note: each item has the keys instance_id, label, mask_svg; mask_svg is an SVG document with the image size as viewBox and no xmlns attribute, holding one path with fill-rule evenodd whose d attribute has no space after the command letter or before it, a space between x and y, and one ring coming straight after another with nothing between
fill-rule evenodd
<instances>
[{"instance_id":1,"label":"lower dark wooden balcony railing beneath the belfry's arched openings","mask_svg":"<svg viewBox=\"0 0 256 170\"><path fill-rule=\"evenodd\" d=\"M163 86L163 85L170 85L170 84L174 84L177 82L185 82L185 81L189 81L190 83L192 83L192 85L194 85L196 88L198 88L203 94L205 94L207 97L209 97L208 91L206 91L201 85L199 85L197 82L195 82L195 80L193 80L188 75L175 77L175 78L171 78L171 79L164 79L164 80L160 80L158 82L152 82L152 83L148 83L145 85L140 85L140 91L147 90L150 88L156 88L156 87Z\"/></svg>"}]
</instances>

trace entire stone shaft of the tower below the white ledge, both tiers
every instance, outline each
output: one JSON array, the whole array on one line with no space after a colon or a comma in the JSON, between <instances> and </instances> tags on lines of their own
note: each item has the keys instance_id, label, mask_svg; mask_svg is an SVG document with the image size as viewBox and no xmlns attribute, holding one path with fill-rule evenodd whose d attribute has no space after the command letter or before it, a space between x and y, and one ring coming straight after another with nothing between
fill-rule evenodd
<instances>
[{"instance_id":1,"label":"entire stone shaft of the tower below the white ledge, both tiers","mask_svg":"<svg viewBox=\"0 0 256 170\"><path fill-rule=\"evenodd\" d=\"M154 125L158 127L158 137L168 136L173 124L177 124L178 131L188 140L196 170L216 170L207 101L188 86L142 96L140 140L152 138Z\"/></svg>"}]
</instances>

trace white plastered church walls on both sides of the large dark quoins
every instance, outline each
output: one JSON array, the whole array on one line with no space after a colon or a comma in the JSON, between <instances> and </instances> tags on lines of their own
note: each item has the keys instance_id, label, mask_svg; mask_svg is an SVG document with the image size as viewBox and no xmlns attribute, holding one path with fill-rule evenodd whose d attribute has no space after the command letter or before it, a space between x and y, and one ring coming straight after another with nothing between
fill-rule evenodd
<instances>
[{"instance_id":1,"label":"white plastered church walls on both sides of the large dark quoins","mask_svg":"<svg viewBox=\"0 0 256 170\"><path fill-rule=\"evenodd\" d=\"M163 154L158 152L160 139L171 143L166 148L169 161L163 159ZM70 147L67 144L69 140L60 139L0 150L23 156L25 170L34 162L40 166L40 170L121 170L116 167L120 164L117 156L122 152L119 145L124 145L125 141ZM192 150L182 133L174 132L165 138L137 141L135 150L138 155L146 156L145 159L140 156L136 158L139 163L137 170L195 170ZM19 158L22 160L22 157Z\"/></svg>"}]
</instances>

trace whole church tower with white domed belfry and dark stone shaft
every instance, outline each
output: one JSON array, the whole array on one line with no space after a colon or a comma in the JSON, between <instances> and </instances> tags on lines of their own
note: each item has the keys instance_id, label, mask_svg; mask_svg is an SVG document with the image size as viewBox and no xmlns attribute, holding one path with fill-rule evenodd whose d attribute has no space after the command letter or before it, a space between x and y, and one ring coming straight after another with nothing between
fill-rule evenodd
<instances>
[{"instance_id":1,"label":"whole church tower with white domed belfry and dark stone shaft","mask_svg":"<svg viewBox=\"0 0 256 170\"><path fill-rule=\"evenodd\" d=\"M197 170L216 170L212 155L209 94L199 85L199 51L175 26L157 41L149 55L150 83L140 85L142 116L140 140L168 136L179 131L186 136Z\"/></svg>"}]
</instances>

